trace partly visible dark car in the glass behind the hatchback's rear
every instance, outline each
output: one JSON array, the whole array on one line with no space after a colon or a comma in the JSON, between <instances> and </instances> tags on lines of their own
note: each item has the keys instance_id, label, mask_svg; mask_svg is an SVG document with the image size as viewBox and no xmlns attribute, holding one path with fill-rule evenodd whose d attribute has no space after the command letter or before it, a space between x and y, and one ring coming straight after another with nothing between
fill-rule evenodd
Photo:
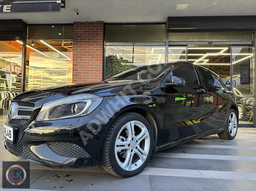
<instances>
[{"instance_id":1,"label":"partly visible dark car in the glass behind the hatchback's rear","mask_svg":"<svg viewBox=\"0 0 256 191\"><path fill-rule=\"evenodd\" d=\"M253 111L253 95L250 85L236 85L233 87L238 108L238 118L241 121L248 121Z\"/></svg>"}]
</instances>

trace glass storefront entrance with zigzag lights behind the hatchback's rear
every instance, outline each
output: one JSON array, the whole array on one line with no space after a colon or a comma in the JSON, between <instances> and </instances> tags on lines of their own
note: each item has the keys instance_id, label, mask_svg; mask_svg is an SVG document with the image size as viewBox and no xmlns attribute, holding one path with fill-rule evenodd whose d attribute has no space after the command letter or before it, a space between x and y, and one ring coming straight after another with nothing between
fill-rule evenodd
<instances>
[{"instance_id":1,"label":"glass storefront entrance with zigzag lights behind the hatchback's rear","mask_svg":"<svg viewBox=\"0 0 256 191\"><path fill-rule=\"evenodd\" d=\"M236 95L239 126L253 126L252 47L183 45L169 47L169 62L186 61L215 72Z\"/></svg>"}]
</instances>

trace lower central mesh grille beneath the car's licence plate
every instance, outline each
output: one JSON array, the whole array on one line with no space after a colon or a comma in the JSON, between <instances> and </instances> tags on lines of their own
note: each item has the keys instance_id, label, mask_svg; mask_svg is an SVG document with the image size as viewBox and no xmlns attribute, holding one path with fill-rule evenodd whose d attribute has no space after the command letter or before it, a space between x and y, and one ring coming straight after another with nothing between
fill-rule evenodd
<instances>
[{"instance_id":1,"label":"lower central mesh grille beneath the car's licence plate","mask_svg":"<svg viewBox=\"0 0 256 191\"><path fill-rule=\"evenodd\" d=\"M39 158L37 158L37 156L35 156L26 146L24 146L24 144L22 144L22 142L20 142L19 140L16 140L16 142L14 144L9 143L8 141L6 141L6 147L7 149L9 149L10 151L12 151L13 153L19 155L19 156L24 156L26 158L30 158L33 159L35 161L41 162L41 160Z\"/></svg>"}]
</instances>

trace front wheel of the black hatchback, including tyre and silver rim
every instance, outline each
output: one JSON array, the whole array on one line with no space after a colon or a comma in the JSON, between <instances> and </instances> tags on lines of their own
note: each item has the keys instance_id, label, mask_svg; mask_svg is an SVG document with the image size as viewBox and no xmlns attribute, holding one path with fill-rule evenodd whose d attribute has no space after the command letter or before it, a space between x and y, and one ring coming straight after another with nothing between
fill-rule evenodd
<instances>
[{"instance_id":1,"label":"front wheel of the black hatchback, including tyre and silver rim","mask_svg":"<svg viewBox=\"0 0 256 191\"><path fill-rule=\"evenodd\" d=\"M128 129L134 129L134 134ZM135 176L147 166L153 144L153 131L147 119L138 113L124 113L113 122L108 130L101 151L100 163L112 175ZM124 146L125 149L119 145ZM133 157L127 158L127 155Z\"/></svg>"}]
</instances>

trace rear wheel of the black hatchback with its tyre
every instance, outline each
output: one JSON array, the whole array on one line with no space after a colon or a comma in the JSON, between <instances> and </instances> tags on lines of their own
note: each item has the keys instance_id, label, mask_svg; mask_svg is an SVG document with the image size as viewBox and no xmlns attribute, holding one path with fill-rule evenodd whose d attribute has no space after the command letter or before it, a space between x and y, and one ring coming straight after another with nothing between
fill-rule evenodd
<instances>
[{"instance_id":1,"label":"rear wheel of the black hatchback with its tyre","mask_svg":"<svg viewBox=\"0 0 256 191\"><path fill-rule=\"evenodd\" d=\"M237 125L236 111L234 109L230 109L226 116L225 130L218 134L219 138L226 140L234 139L237 134Z\"/></svg>"}]
</instances>

